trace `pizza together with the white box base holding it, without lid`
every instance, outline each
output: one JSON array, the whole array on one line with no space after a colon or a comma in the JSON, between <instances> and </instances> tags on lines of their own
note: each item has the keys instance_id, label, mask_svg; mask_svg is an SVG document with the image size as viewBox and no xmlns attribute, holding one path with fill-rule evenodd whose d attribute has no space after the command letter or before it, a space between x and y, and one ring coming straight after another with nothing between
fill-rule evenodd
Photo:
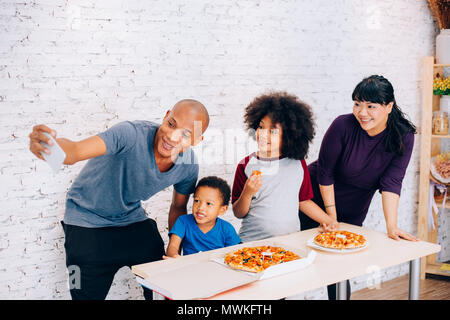
<instances>
[{"instance_id":1,"label":"pizza together with the white box base holding it, without lid","mask_svg":"<svg viewBox=\"0 0 450 320\"><path fill-rule=\"evenodd\" d=\"M303 269L315 258L315 251L289 248L280 244L249 246L247 243L212 260L238 272L258 274L259 279Z\"/></svg>"}]
</instances>

